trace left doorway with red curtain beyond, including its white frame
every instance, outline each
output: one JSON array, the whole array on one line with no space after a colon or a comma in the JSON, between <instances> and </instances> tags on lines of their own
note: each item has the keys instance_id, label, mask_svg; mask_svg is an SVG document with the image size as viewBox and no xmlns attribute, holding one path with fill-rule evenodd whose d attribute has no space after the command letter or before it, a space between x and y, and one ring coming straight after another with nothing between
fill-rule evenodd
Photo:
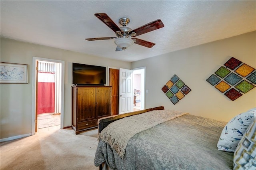
<instances>
[{"instance_id":1,"label":"left doorway with red curtain beyond, including its white frame","mask_svg":"<svg viewBox=\"0 0 256 170\"><path fill-rule=\"evenodd\" d=\"M32 134L63 128L64 61L33 57L32 73Z\"/></svg>"}]
</instances>

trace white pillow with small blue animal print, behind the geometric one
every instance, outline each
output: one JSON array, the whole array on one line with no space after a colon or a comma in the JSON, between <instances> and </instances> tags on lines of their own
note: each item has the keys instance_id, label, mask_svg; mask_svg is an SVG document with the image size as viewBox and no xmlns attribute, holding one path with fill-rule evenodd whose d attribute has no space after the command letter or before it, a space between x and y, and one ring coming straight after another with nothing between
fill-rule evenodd
<instances>
[{"instance_id":1,"label":"white pillow with small blue animal print, behind the geometric one","mask_svg":"<svg viewBox=\"0 0 256 170\"><path fill-rule=\"evenodd\" d=\"M240 113L231 119L220 134L218 150L235 152L238 142L243 137L249 125L256 119L256 107Z\"/></svg>"}]
</instances>

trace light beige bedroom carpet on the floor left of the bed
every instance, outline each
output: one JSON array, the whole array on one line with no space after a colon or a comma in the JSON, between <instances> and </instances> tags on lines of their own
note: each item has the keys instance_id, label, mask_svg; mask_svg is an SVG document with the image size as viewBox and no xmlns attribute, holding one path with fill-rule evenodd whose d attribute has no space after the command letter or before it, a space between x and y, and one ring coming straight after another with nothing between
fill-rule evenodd
<instances>
[{"instance_id":1,"label":"light beige bedroom carpet on the floor left of the bed","mask_svg":"<svg viewBox=\"0 0 256 170\"><path fill-rule=\"evenodd\" d=\"M98 170L94 155L98 129L75 134L71 128L38 132L1 142L1 170Z\"/></svg>"}]
</instances>

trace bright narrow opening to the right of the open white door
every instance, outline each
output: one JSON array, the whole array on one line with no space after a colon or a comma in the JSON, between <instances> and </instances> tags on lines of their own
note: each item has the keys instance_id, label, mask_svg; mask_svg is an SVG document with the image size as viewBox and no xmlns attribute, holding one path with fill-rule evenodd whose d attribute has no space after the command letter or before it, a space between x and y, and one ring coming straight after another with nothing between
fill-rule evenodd
<instances>
[{"instance_id":1,"label":"bright narrow opening to the right of the open white door","mask_svg":"<svg viewBox=\"0 0 256 170\"><path fill-rule=\"evenodd\" d=\"M145 67L133 70L133 111L144 109L145 100Z\"/></svg>"}]
</instances>

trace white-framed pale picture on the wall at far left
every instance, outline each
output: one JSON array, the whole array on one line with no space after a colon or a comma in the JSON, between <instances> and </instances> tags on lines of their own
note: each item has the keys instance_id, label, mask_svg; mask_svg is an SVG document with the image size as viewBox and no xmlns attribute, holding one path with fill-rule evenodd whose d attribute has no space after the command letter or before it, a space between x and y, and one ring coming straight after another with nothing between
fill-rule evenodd
<instances>
[{"instance_id":1,"label":"white-framed pale picture on the wall at far left","mask_svg":"<svg viewBox=\"0 0 256 170\"><path fill-rule=\"evenodd\" d=\"M28 84L28 64L0 62L0 83Z\"/></svg>"}]
</instances>

